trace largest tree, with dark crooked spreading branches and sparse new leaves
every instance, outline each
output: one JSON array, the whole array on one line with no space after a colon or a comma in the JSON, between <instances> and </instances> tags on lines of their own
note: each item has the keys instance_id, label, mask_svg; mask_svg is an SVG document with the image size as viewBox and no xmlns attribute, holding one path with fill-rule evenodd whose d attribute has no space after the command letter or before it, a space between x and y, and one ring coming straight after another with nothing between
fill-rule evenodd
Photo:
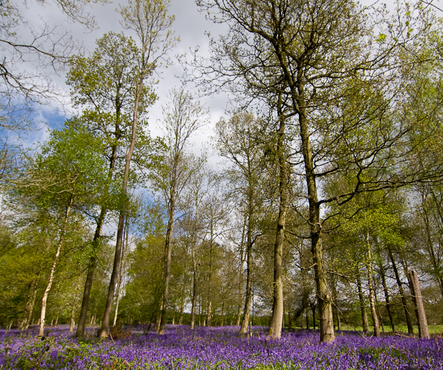
<instances>
[{"instance_id":1,"label":"largest tree, with dark crooked spreading branches and sparse new leaves","mask_svg":"<svg viewBox=\"0 0 443 370\"><path fill-rule=\"evenodd\" d=\"M298 118L300 152L294 164L305 180L309 204L320 341L333 341L332 294L323 258L320 208L347 202L357 193L435 178L434 168L399 170L395 159L406 161L413 150L405 145L410 126L396 125L386 116L394 104L393 99L388 104L386 98L392 97L392 91L394 96L401 91L401 82L394 83L392 73L387 73L400 67L394 51L419 44L429 25L426 15L420 12L418 20L413 12L405 12L400 22L415 24L414 33L407 32L403 23L387 24L389 37L381 33L379 42L374 42L378 37L373 34L369 10L351 0L198 3L215 21L229 27L228 36L213 41L210 66L204 62L199 66L206 81L216 88L230 85L237 91L243 87L244 94L251 91L259 97L281 93L286 107ZM350 110L350 105L357 109ZM374 122L381 125L376 127ZM370 174L381 164L383 170ZM319 186L334 173L352 173L352 188L320 199Z\"/></svg>"}]
</instances>

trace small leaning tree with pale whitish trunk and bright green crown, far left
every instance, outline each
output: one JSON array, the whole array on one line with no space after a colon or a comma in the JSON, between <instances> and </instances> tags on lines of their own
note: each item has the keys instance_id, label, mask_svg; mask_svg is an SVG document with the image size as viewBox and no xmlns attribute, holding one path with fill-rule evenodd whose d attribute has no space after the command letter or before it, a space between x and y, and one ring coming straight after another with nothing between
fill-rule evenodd
<instances>
[{"instance_id":1,"label":"small leaning tree with pale whitish trunk and bright green crown, far left","mask_svg":"<svg viewBox=\"0 0 443 370\"><path fill-rule=\"evenodd\" d=\"M37 155L31 175L17 188L28 196L34 206L53 213L58 224L57 250L53 258L48 285L42 299L39 335L44 335L46 301L51 290L55 268L62 250L66 227L75 205L88 208L100 195L103 161L101 143L76 121L66 122L65 128L53 131L42 154ZM61 214L60 214L61 213Z\"/></svg>"}]
</instances>

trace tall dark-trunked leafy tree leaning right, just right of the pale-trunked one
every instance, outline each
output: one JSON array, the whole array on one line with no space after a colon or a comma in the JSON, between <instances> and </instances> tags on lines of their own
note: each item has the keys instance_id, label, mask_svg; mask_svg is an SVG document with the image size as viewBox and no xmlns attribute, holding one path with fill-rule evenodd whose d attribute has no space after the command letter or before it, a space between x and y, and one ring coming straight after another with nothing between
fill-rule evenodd
<instances>
[{"instance_id":1,"label":"tall dark-trunked leafy tree leaning right, just right of the pale-trunked one","mask_svg":"<svg viewBox=\"0 0 443 370\"><path fill-rule=\"evenodd\" d=\"M93 250L75 332L80 337L84 335L102 227L108 210L116 206L112 193L113 190L115 192L116 181L123 166L120 158L125 157L124 147L130 140L131 112L136 100L134 90L138 83L138 53L139 49L131 37L122 33L107 33L98 39L97 48L89 58L78 57L71 60L71 70L68 73L67 83L72 87L74 103L84 109L81 117L84 124L105 143L102 155L109 168L107 176L102 179L105 191L100 211L94 217L96 231ZM147 87L138 100L138 116L144 118L147 106L153 100Z\"/></svg>"}]
</instances>

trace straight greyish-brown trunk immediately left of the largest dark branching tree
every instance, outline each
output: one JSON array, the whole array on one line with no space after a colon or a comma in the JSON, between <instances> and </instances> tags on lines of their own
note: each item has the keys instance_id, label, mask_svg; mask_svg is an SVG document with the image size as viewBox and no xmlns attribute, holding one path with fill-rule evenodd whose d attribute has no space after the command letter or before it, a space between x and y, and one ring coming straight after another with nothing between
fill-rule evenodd
<instances>
[{"instance_id":1,"label":"straight greyish-brown trunk immediately left of the largest dark branching tree","mask_svg":"<svg viewBox=\"0 0 443 370\"><path fill-rule=\"evenodd\" d=\"M280 204L278 206L277 233L275 235L274 244L274 281L273 281L273 307L271 325L269 326L268 335L274 338L282 336L283 324L283 270L282 270L282 254L284 243L284 230L286 227L287 214L287 163L284 156L284 128L285 121L282 112L281 94L278 99L278 116L280 126L278 129L277 155L279 168L279 184L278 191L280 196Z\"/></svg>"}]
</instances>

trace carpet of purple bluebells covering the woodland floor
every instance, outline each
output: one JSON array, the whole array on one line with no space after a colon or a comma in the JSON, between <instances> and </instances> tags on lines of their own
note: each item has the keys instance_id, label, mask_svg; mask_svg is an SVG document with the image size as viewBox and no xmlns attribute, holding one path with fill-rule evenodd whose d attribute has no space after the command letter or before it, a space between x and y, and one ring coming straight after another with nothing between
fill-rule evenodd
<instances>
[{"instance_id":1,"label":"carpet of purple bluebells covering the woodland floor","mask_svg":"<svg viewBox=\"0 0 443 370\"><path fill-rule=\"evenodd\" d=\"M37 328L0 331L3 369L309 369L443 370L443 339L370 337L338 333L320 344L318 332L283 333L280 340L254 327L253 337L239 337L237 327L167 326L165 335L130 328L126 339L78 340L68 328L52 328L46 337Z\"/></svg>"}]
</instances>

